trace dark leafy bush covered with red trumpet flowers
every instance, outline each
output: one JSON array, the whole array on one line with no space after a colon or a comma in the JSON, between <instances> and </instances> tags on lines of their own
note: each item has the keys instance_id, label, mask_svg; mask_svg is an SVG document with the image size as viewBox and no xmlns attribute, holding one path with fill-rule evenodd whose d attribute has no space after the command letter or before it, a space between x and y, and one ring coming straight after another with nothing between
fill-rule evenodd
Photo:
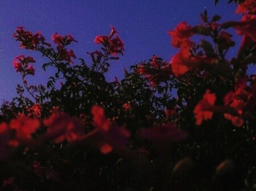
<instances>
[{"instance_id":1,"label":"dark leafy bush covered with red trumpet flowers","mask_svg":"<svg viewBox=\"0 0 256 191\"><path fill-rule=\"evenodd\" d=\"M248 65L256 63L256 3L235 2L242 21L221 23L204 11L202 24L181 22L168 32L180 50L170 62L153 55L113 82L104 75L124 53L114 27L94 39L100 49L88 52L90 65L74 63L71 35L55 33L52 45L18 27L20 47L56 71L46 85L30 85L35 60L13 62L23 85L1 106L2 189L252 190L256 78ZM233 29L242 42L229 60ZM205 38L197 44L193 35Z\"/></svg>"}]
</instances>

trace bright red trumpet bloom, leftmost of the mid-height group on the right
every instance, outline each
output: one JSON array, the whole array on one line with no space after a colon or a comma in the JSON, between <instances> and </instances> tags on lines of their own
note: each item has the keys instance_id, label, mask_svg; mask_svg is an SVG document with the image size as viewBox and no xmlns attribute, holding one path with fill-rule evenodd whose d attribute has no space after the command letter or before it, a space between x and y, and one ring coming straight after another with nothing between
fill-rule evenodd
<instances>
[{"instance_id":1,"label":"bright red trumpet bloom, leftmost of the mid-height group on the right","mask_svg":"<svg viewBox=\"0 0 256 191\"><path fill-rule=\"evenodd\" d=\"M194 108L194 114L196 115L196 124L202 124L203 120L209 120L212 118L213 112L209 110L209 106L213 105L216 101L216 95L210 93L210 90L206 90L202 100L198 102Z\"/></svg>"}]
</instances>

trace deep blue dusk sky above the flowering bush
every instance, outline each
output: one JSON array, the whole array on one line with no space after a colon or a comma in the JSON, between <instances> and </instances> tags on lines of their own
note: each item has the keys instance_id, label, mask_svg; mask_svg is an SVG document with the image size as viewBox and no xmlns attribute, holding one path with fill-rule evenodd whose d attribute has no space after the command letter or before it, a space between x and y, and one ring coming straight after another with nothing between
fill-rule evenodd
<instances>
[{"instance_id":1,"label":"deep blue dusk sky above the flowering bush","mask_svg":"<svg viewBox=\"0 0 256 191\"><path fill-rule=\"evenodd\" d=\"M222 16L222 21L239 20L241 16L234 14L235 4L227 2L222 0L214 6L214 0L1 0L0 102L16 96L16 84L21 83L19 73L12 66L14 57L24 54L36 59L36 74L29 78L29 84L45 84L48 77L42 70L40 54L20 49L12 38L17 26L33 33L39 30L46 41L51 41L55 32L71 34L78 43L70 49L88 64L90 57L86 52L99 47L94 44L95 36L108 34L110 25L115 26L124 41L125 52L124 57L112 62L107 75L112 81L115 76L123 77L124 67L129 68L154 54L170 61L177 50L170 45L168 30L183 20L191 25L200 24L199 13L205 8L210 16Z\"/></svg>"}]
</instances>

